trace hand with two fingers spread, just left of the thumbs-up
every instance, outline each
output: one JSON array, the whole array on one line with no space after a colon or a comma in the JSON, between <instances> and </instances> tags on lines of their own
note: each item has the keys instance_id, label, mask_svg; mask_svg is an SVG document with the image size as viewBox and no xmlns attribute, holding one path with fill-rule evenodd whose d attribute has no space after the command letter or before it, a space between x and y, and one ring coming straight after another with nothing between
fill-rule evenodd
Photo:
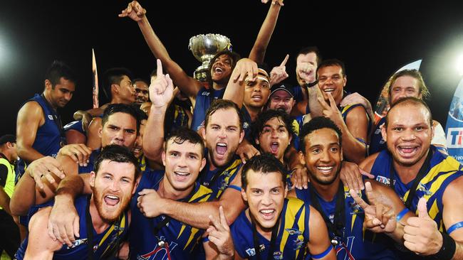
<instances>
[{"instance_id":1,"label":"hand with two fingers spread, just left of the thumbs-up","mask_svg":"<svg viewBox=\"0 0 463 260\"><path fill-rule=\"evenodd\" d=\"M377 202L376 195L373 193L373 188L371 188L371 184L369 182L365 183L365 193L371 205L365 202L365 200L363 200L358 193L355 192L355 190L350 189L349 193L365 212L365 221L363 222L364 227L375 233L394 232L396 227L395 214L392 209Z\"/></svg>"}]
</instances>

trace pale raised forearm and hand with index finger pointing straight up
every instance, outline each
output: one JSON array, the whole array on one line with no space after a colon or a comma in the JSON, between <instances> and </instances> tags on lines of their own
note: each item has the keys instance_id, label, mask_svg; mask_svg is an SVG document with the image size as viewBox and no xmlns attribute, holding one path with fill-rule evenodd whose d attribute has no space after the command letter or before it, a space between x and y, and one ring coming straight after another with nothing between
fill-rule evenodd
<instances>
[{"instance_id":1,"label":"pale raised forearm and hand with index finger pointing straight up","mask_svg":"<svg viewBox=\"0 0 463 260\"><path fill-rule=\"evenodd\" d=\"M157 60L157 77L150 85L151 111L145 134L143 134L143 153L146 158L162 163L162 144L164 143L164 118L172 98L174 85L170 76L162 74L162 63Z\"/></svg>"}]
</instances>

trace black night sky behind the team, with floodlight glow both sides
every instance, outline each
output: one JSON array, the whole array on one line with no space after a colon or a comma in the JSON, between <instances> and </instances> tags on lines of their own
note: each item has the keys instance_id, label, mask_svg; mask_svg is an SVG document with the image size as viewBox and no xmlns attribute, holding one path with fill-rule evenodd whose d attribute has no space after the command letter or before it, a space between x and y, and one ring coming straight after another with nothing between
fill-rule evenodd
<instances>
[{"instance_id":1,"label":"black night sky behind the team, with floodlight glow both sides","mask_svg":"<svg viewBox=\"0 0 463 260\"><path fill-rule=\"evenodd\" d=\"M128 1L8 1L0 9L0 134L16 131L16 114L55 59L79 75L63 122L92 105L91 48L98 74L124 66L148 80L155 58L137 24L118 18ZM199 62L188 40L199 33L228 36L236 52L249 55L269 4L259 0L141 1L155 32L173 60L192 75ZM435 119L445 124L460 80L455 69L463 53L463 1L291 1L286 0L266 54L266 63L290 55L287 71L296 84L295 55L317 45L323 58L346 65L347 90L375 103L387 77L402 65L423 59L422 73ZM100 78L101 82L101 78ZM101 88L101 85L100 85Z\"/></svg>"}]
</instances>

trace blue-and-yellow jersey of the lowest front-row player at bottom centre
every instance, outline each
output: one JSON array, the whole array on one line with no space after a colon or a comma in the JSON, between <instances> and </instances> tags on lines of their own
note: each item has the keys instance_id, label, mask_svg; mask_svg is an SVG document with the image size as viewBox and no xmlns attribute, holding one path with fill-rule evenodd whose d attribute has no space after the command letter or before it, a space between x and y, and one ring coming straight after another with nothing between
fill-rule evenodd
<instances>
[{"instance_id":1,"label":"blue-and-yellow jersey of the lowest front-row player at bottom centre","mask_svg":"<svg viewBox=\"0 0 463 260\"><path fill-rule=\"evenodd\" d=\"M309 217L310 207L308 205L294 197L285 199L280 215L275 251L271 252L273 259L310 259L310 253L306 249L309 239ZM241 212L241 215L231 224L230 231L239 256L243 259L257 259L252 224L246 217L246 211ZM267 259L270 241L259 232L257 232L257 237L261 258Z\"/></svg>"}]
</instances>

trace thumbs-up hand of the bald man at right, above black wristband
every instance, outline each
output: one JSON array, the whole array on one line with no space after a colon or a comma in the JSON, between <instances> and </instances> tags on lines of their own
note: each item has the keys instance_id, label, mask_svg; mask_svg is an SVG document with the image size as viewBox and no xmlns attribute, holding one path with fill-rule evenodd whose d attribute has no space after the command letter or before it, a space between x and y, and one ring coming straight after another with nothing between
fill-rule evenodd
<instances>
[{"instance_id":1,"label":"thumbs-up hand of the bald man at right, above black wristband","mask_svg":"<svg viewBox=\"0 0 463 260\"><path fill-rule=\"evenodd\" d=\"M418 202L418 217L409 217L404 227L404 246L416 254L436 254L442 247L442 234L437 224L427 214L426 199L420 198Z\"/></svg>"}]
</instances>

